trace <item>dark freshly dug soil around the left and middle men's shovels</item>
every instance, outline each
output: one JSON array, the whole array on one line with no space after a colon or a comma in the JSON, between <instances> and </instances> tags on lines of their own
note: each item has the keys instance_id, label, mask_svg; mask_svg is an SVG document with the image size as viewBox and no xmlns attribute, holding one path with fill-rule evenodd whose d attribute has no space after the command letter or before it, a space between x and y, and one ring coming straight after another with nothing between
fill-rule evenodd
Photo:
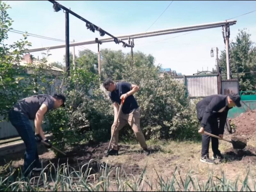
<instances>
[{"instance_id":1,"label":"dark freshly dug soil around the left and middle men's shovels","mask_svg":"<svg viewBox=\"0 0 256 192\"><path fill-rule=\"evenodd\" d=\"M132 159L141 160L146 156L146 154L140 153L140 151L130 150L130 147L128 145L123 145L119 147L120 147L121 153L132 154L132 156L130 157ZM56 165L58 164L60 165L60 164L68 163L70 167L73 167L75 170L79 170L80 168L82 168L84 164L87 164L83 167L83 170L86 170L88 166L89 168L92 168L90 174L94 174L94 173L99 173L100 168L106 166L105 161L103 161L103 163L99 163L99 162L101 159L105 157L107 149L108 149L108 143L100 143L98 145L78 145L77 147L66 149L65 152L67 156L60 156L59 158L56 158L54 153L52 151L47 151L46 148L44 148L44 150L38 151L38 153L39 154L43 153L42 155L39 155L39 158L43 162L44 167L48 165L50 162L54 164L55 167L57 167ZM156 152L157 150L159 150L158 146L154 147L152 152ZM0 156L0 165L4 165L8 163L10 160L13 160L13 161L16 160L14 163L12 163L12 166L14 167L22 166L23 156L24 156L24 150L16 154L10 154L4 157ZM91 159L93 159L94 161L90 161ZM108 161L107 167L112 167L111 170L113 170L112 172L110 172L110 177L116 177L117 167L120 167L119 173L118 173L119 176L124 174L138 175L143 170L136 163L110 164L110 162ZM52 167L51 169L54 169L54 168ZM93 177L91 179L93 179Z\"/></svg>"}]
</instances>

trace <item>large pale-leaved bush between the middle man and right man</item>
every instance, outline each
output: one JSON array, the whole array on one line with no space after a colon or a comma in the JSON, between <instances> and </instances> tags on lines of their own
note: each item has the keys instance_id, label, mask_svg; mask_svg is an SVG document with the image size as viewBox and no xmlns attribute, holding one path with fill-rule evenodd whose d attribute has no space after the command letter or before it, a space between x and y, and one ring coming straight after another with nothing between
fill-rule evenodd
<instances>
[{"instance_id":1,"label":"large pale-leaved bush between the middle man and right man","mask_svg":"<svg viewBox=\"0 0 256 192\"><path fill-rule=\"evenodd\" d=\"M197 138L195 107L189 103L184 84L170 75L159 76L159 67L127 69L124 80L140 86L135 94L141 109L141 127L149 139Z\"/></svg>"}]
</instances>

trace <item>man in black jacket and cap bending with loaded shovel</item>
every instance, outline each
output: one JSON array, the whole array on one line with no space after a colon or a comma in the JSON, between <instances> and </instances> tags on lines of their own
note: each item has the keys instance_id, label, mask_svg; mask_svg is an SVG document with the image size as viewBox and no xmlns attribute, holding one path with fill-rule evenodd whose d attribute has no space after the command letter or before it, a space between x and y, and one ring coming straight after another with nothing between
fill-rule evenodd
<instances>
[{"instance_id":1,"label":"man in black jacket and cap bending with loaded shovel","mask_svg":"<svg viewBox=\"0 0 256 192\"><path fill-rule=\"evenodd\" d=\"M228 116L228 110L235 106L241 107L240 95L230 93L229 95L211 95L200 100L196 104L197 119L200 122L200 134L210 132L214 135L223 138L224 126ZM220 124L218 125L217 118L220 118ZM219 140L212 137L212 152L213 160L223 159L223 156L219 150ZM203 163L214 164L214 161L209 158L209 145L210 136L202 135L202 151L200 161Z\"/></svg>"}]
</instances>

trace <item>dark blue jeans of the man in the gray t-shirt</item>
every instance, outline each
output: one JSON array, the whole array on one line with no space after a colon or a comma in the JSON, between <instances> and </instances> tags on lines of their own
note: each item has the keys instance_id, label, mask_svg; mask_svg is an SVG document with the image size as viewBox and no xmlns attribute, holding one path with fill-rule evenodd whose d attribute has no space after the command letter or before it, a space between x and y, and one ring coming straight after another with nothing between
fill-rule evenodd
<instances>
[{"instance_id":1,"label":"dark blue jeans of the man in the gray t-shirt","mask_svg":"<svg viewBox=\"0 0 256 192\"><path fill-rule=\"evenodd\" d=\"M10 110L9 119L26 145L23 171L24 176L26 177L34 167L40 165L35 133L32 129L28 117L24 116L20 112L14 111L13 109Z\"/></svg>"}]
</instances>

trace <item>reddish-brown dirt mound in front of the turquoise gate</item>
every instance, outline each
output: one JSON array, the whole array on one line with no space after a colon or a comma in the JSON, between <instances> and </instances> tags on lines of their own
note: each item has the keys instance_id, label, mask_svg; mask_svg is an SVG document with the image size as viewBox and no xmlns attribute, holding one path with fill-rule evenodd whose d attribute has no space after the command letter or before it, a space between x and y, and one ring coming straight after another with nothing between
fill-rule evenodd
<instances>
[{"instance_id":1,"label":"reddish-brown dirt mound in front of the turquoise gate","mask_svg":"<svg viewBox=\"0 0 256 192\"><path fill-rule=\"evenodd\" d=\"M256 110L241 113L238 117L232 119L231 122L236 126L234 135L242 135L249 139L256 132Z\"/></svg>"}]
</instances>

